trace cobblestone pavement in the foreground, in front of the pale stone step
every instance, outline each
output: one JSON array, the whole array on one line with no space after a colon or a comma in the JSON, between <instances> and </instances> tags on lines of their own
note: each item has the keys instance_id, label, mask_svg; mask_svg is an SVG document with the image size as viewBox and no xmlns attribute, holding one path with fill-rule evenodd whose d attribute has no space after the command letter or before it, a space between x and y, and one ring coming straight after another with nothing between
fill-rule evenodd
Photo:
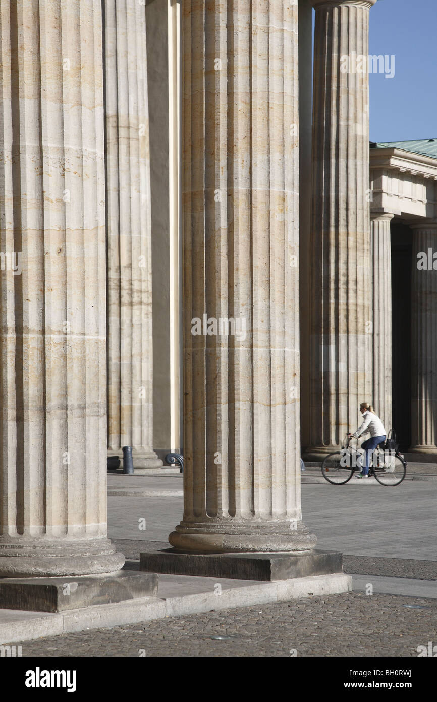
<instances>
[{"instance_id":1,"label":"cobblestone pavement in the foreground, in front of the pale stone step","mask_svg":"<svg viewBox=\"0 0 437 702\"><path fill-rule=\"evenodd\" d=\"M349 592L47 637L22 656L417 656L429 641L436 600Z\"/></svg>"}]
</instances>

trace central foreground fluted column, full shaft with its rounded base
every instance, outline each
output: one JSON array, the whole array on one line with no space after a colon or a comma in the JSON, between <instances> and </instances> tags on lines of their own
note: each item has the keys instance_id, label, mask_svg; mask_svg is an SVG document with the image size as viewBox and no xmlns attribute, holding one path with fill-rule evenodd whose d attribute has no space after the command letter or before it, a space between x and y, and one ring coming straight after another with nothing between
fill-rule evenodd
<instances>
[{"instance_id":1,"label":"central foreground fluted column, full shaft with its rounded base","mask_svg":"<svg viewBox=\"0 0 437 702\"><path fill-rule=\"evenodd\" d=\"M297 5L187 0L182 32L184 517L169 541L305 550Z\"/></svg>"}]
</instances>

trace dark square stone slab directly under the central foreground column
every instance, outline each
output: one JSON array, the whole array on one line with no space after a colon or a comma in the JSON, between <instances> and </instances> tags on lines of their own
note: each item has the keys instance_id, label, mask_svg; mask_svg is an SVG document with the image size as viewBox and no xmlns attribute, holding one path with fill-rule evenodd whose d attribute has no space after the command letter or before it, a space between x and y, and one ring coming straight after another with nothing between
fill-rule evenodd
<instances>
[{"instance_id":1,"label":"dark square stone slab directly under the central foreground column","mask_svg":"<svg viewBox=\"0 0 437 702\"><path fill-rule=\"evenodd\" d=\"M140 570L173 575L278 581L342 573L341 553L179 553L173 548L140 553Z\"/></svg>"}]
</instances>

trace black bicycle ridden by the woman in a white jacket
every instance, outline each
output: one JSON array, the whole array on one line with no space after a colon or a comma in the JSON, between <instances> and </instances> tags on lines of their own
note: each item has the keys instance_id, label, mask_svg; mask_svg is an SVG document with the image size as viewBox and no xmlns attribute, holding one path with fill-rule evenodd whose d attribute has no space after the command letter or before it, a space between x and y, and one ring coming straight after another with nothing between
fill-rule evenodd
<instances>
[{"instance_id":1,"label":"black bicycle ridden by the woman in a white jacket","mask_svg":"<svg viewBox=\"0 0 437 702\"><path fill-rule=\"evenodd\" d=\"M331 485L345 485L354 472L361 472L364 465L364 450L350 446L351 439L346 435L339 451L330 453L322 463L322 475ZM375 477L379 484L395 487L401 484L407 472L407 462L399 451L386 451L379 444L372 451L369 477Z\"/></svg>"}]
</instances>

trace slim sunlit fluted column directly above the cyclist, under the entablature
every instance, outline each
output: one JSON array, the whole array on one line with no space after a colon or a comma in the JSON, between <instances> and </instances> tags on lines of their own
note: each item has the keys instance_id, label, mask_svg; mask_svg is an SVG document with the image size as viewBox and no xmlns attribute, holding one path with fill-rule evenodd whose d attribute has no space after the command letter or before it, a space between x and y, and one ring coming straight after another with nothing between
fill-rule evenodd
<instances>
[{"instance_id":1,"label":"slim sunlit fluted column directly above the cyclist, under the entablature","mask_svg":"<svg viewBox=\"0 0 437 702\"><path fill-rule=\"evenodd\" d=\"M373 394L372 401L386 431L391 418L391 240L390 213L370 213L372 260Z\"/></svg>"}]
</instances>

